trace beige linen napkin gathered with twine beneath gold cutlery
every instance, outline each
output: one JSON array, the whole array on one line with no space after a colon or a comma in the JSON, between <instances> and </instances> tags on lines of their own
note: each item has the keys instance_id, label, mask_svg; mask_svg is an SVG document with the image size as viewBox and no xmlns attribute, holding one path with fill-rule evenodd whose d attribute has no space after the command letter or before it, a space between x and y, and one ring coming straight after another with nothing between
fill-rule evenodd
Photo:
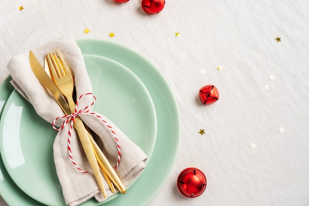
<instances>
[{"instance_id":1,"label":"beige linen napkin gathered with twine beneath gold cutlery","mask_svg":"<svg viewBox=\"0 0 309 206\"><path fill-rule=\"evenodd\" d=\"M61 38L49 41L39 48L33 49L41 65L43 65L46 52L53 48L58 48L60 50L75 75L77 97L83 93L92 92L91 82L76 41L71 37ZM31 102L39 116L47 122L52 123L56 117L64 115L55 99L32 72L29 62L29 52L12 57L7 68L13 78L12 84ZM104 90L102 92L104 92ZM92 97L84 97L85 98L82 98L78 102L78 109L82 109L86 105L91 104ZM130 141L115 124L105 116L102 115L102 117L113 127L119 140L121 160L116 169L116 173L119 175L124 185L127 186L143 171L147 156L143 150ZM111 130L103 124L100 119L93 115L81 114L80 118L93 132L95 132L95 140L111 165L115 166L118 150ZM53 128L50 127L50 129ZM70 206L76 206L92 197L95 197L100 202L105 201L106 199L103 197L96 183L75 129L73 129L71 137L72 155L77 165L81 167L81 169L87 170L88 173L81 173L72 164L68 156L68 130L69 125L59 131L53 145L54 162L66 203ZM106 182L104 182L104 184L107 196L112 196L113 193L109 189L108 184Z\"/></svg>"}]
</instances>

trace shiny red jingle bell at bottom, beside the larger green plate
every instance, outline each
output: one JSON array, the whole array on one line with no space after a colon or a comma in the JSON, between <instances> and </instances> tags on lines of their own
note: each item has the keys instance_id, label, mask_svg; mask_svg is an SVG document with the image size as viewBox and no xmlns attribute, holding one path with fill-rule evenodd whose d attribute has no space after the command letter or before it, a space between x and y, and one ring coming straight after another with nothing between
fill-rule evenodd
<instances>
[{"instance_id":1,"label":"shiny red jingle bell at bottom, beside the larger green plate","mask_svg":"<svg viewBox=\"0 0 309 206\"><path fill-rule=\"evenodd\" d=\"M206 177L195 167L186 168L178 175L177 187L182 195L196 198L206 189Z\"/></svg>"}]
</instances>

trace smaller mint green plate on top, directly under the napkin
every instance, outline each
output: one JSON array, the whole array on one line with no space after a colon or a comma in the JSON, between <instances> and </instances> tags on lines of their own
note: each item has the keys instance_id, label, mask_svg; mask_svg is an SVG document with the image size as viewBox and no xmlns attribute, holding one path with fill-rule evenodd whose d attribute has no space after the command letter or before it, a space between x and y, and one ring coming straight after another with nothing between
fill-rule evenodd
<instances>
[{"instance_id":1,"label":"smaller mint green plate on top, directly under the napkin","mask_svg":"<svg viewBox=\"0 0 309 206\"><path fill-rule=\"evenodd\" d=\"M133 72L114 60L89 54L83 57L97 98L93 111L115 123L150 159L156 117L146 87ZM0 120L2 161L19 188L48 206L66 205L53 160L56 134L27 100L16 90L11 93Z\"/></svg>"}]
</instances>

